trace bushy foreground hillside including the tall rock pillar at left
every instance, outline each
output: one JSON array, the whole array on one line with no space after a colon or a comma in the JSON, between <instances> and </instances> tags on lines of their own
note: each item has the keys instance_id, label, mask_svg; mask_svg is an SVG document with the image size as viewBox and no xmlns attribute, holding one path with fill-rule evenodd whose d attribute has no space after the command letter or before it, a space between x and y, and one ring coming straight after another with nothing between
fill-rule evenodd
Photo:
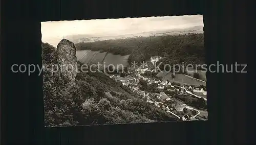
<instances>
[{"instance_id":1,"label":"bushy foreground hillside including the tall rock pillar at left","mask_svg":"<svg viewBox=\"0 0 256 145\"><path fill-rule=\"evenodd\" d=\"M45 126L77 126L174 121L121 82L100 72L57 71L54 64L74 64L76 47L66 39L57 48L42 43Z\"/></svg>"}]
</instances>

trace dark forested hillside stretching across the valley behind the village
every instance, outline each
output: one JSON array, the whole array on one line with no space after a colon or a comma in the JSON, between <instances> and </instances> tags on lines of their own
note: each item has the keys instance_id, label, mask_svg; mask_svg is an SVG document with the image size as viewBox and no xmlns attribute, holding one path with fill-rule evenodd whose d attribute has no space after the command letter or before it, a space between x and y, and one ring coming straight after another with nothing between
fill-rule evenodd
<instances>
[{"instance_id":1,"label":"dark forested hillside stretching across the valley behind the village","mask_svg":"<svg viewBox=\"0 0 256 145\"><path fill-rule=\"evenodd\" d=\"M142 62L151 56L162 56L172 63L205 63L203 34L136 37L76 44L77 50L130 55L129 62Z\"/></svg>"}]
</instances>

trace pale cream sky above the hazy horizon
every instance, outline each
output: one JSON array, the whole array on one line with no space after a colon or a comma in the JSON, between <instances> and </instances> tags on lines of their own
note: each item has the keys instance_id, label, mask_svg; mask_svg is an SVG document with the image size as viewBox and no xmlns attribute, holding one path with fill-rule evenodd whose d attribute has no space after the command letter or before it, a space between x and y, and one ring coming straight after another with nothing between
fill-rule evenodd
<instances>
[{"instance_id":1,"label":"pale cream sky above the hazy horizon","mask_svg":"<svg viewBox=\"0 0 256 145\"><path fill-rule=\"evenodd\" d=\"M67 35L115 36L203 26L202 15L41 22L42 42L57 45Z\"/></svg>"}]
</instances>

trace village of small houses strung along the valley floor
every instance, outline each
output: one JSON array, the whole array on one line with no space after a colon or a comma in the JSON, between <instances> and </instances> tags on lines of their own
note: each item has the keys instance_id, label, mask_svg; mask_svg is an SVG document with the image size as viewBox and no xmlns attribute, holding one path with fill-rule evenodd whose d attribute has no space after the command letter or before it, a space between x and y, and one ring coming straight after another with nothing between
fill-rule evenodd
<instances>
[{"instance_id":1,"label":"village of small houses strung along the valley floor","mask_svg":"<svg viewBox=\"0 0 256 145\"><path fill-rule=\"evenodd\" d=\"M202 98L206 101L206 98L197 95L204 94L206 96L205 87L171 83L169 80L144 75L145 73L153 72L150 65L158 60L159 57L152 57L151 60L147 62L147 65L129 68L125 75L108 74L108 76L116 81L120 81L124 86L129 87L146 102L173 114L179 120L206 120L207 110L195 109L195 107L188 106L174 97L174 95L183 95L189 96L190 98ZM141 85L142 80L147 86L154 86L153 91L143 90ZM200 113L204 115L200 116Z\"/></svg>"}]
</instances>

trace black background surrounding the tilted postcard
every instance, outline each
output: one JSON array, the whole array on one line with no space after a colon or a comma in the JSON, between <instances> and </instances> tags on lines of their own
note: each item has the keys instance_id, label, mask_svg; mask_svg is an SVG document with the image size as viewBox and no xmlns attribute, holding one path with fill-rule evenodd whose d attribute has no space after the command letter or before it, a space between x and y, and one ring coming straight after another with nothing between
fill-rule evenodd
<instances>
[{"instance_id":1,"label":"black background surrounding the tilted postcard","mask_svg":"<svg viewBox=\"0 0 256 145\"><path fill-rule=\"evenodd\" d=\"M240 3L196 0L2 2L2 144L249 143L253 134L245 132L253 127L248 126L248 114L243 112L248 109L246 97L253 89L242 85L246 84L248 74L207 73L207 122L45 128L42 76L14 74L10 69L14 63L41 65L40 21L196 14L203 14L208 65L217 61L247 64L248 39L244 37L247 31L244 25L248 9ZM238 6L239 15L234 11Z\"/></svg>"}]
</instances>

